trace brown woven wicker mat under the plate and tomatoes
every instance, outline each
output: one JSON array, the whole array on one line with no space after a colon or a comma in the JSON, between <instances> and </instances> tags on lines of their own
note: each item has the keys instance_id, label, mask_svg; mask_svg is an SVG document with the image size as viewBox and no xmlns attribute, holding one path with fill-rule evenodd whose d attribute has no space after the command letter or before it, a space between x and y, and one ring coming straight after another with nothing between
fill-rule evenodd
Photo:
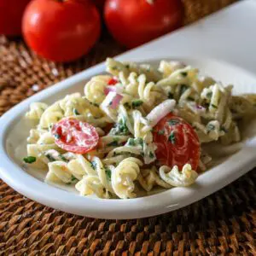
<instances>
[{"instance_id":1,"label":"brown woven wicker mat under the plate and tomatoes","mask_svg":"<svg viewBox=\"0 0 256 256\"><path fill-rule=\"evenodd\" d=\"M185 23L232 2L194 1L184 1ZM0 38L0 114L123 50L103 35L90 55L61 65L38 58L21 41ZM189 207L122 221L56 211L0 181L0 255L256 255L255 201L255 170Z\"/></svg>"}]
</instances>

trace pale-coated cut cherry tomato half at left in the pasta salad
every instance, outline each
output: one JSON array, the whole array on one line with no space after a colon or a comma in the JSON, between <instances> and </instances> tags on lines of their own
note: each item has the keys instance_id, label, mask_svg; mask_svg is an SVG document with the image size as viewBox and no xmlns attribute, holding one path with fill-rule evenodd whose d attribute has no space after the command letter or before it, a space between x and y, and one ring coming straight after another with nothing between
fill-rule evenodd
<instances>
[{"instance_id":1,"label":"pale-coated cut cherry tomato half at left in the pasta salad","mask_svg":"<svg viewBox=\"0 0 256 256\"><path fill-rule=\"evenodd\" d=\"M61 119L52 127L51 133L57 146L76 154L89 152L99 142L94 126L73 118Z\"/></svg>"}]
</instances>

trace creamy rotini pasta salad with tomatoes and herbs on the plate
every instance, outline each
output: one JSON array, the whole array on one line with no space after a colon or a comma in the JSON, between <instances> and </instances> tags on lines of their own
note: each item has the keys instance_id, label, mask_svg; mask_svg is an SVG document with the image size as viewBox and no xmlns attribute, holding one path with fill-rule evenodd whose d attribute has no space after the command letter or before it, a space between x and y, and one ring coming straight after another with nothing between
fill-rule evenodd
<instances>
[{"instance_id":1,"label":"creamy rotini pasta salad with tomatoes and herbs on the plate","mask_svg":"<svg viewBox=\"0 0 256 256\"><path fill-rule=\"evenodd\" d=\"M181 62L155 69L108 58L106 66L84 95L35 102L26 113L36 125L24 161L80 195L128 199L189 186L212 160L201 146L239 142L237 123L255 108L255 96L232 96L231 85Z\"/></svg>"}]
</instances>

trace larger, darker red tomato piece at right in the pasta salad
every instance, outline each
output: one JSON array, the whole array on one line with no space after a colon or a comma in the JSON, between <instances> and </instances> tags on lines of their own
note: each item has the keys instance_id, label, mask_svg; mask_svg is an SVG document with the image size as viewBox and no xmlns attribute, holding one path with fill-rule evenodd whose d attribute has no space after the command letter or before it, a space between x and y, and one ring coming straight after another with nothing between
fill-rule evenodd
<instances>
[{"instance_id":1,"label":"larger, darker red tomato piece at right in the pasta salad","mask_svg":"<svg viewBox=\"0 0 256 256\"><path fill-rule=\"evenodd\" d=\"M161 165L177 166L181 171L188 163L196 171L200 160L199 138L184 119L169 113L155 125L153 137Z\"/></svg>"}]
</instances>

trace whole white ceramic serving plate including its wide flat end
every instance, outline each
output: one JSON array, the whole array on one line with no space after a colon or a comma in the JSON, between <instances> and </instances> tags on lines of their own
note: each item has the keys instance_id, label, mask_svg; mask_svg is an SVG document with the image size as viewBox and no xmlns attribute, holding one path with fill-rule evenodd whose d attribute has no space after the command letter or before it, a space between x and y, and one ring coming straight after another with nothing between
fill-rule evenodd
<instances>
[{"instance_id":1,"label":"whole white ceramic serving plate including its wide flat end","mask_svg":"<svg viewBox=\"0 0 256 256\"><path fill-rule=\"evenodd\" d=\"M246 5L248 16L250 15L252 7L256 7L253 1L245 1L243 4L236 4L217 15L212 15L212 17L205 20L205 22L212 24L211 20L215 20L215 23L213 23L216 25L216 16L218 16L217 20L221 19L222 22L226 19L227 23L222 23L221 29L224 30L223 26L227 24L226 28L230 32L230 13L235 15L236 20L237 16L245 14ZM237 8L238 6L240 6L239 9ZM254 11L255 9L253 12ZM254 17L254 15L252 17ZM255 18L254 20L256 21ZM219 50L213 47L216 42L214 42L214 44L211 43L212 38L216 37L218 31L214 32L215 29L213 29L211 36L205 39L200 38L198 41L198 44L202 44L201 40L204 40L204 44L207 45L208 49L204 47L200 51L200 47L195 47L195 34L193 35L193 31L196 32L196 29L200 26L200 23L198 23L179 32L175 32L172 35L155 40L153 43L146 44L143 47L125 53L125 55L120 55L119 59L155 63L155 61L157 62L160 58L177 60L177 57L180 56L180 58L178 58L179 60L199 67L203 73L210 74L213 78L223 81L224 84L235 84L234 92L236 94L248 92L256 93L256 77L254 77L252 73L245 71L241 67L234 67L224 61L214 61L212 58L206 57L216 55L218 59L220 59ZM247 26L247 24L245 24L245 26ZM202 30L201 32L203 33L204 31ZM241 32L244 32L244 30ZM189 36L188 33L191 33L191 35ZM236 35L237 33L239 32L236 31ZM186 36L186 40L181 39L184 36ZM191 42L194 42L192 44L194 46L191 47L190 51L188 49L191 42L188 37L191 38ZM251 40L253 40L253 38L251 38ZM256 39L253 42L255 45ZM172 47L170 46L171 44ZM224 47L229 53L227 48L228 44L225 44ZM175 51L173 51L173 49L175 49ZM247 50L250 51L253 49ZM221 51L224 53L222 48ZM185 54L186 57L184 57ZM191 57L191 55L194 55L194 57ZM195 55L197 55L197 58L195 58ZM249 55L247 53L247 56L251 56L251 54ZM239 56L233 56L232 58L230 58L230 54L223 54L221 59L233 62L238 62L240 59ZM150 59L153 59L153 61L150 61ZM235 59L237 61L234 61ZM248 62L251 65L254 64L251 68L251 70L253 70L256 64L255 60L253 60L253 55L250 59L247 59L246 63ZM241 66L247 67L247 65L243 65L242 61L241 63ZM15 152L17 148L21 148L21 154L26 154L25 149L22 147L24 147L29 127L24 124L22 116L29 108L29 105L32 102L55 102L69 93L82 91L86 80L102 72L104 72L104 64L92 67L61 83L55 84L55 86L43 90L37 95L26 99L26 101L21 102L8 113L5 113L0 119L0 176L6 183L20 192L20 194L26 195L32 200L43 203L49 207L88 217L143 218L170 212L189 205L194 201L198 201L218 189L223 188L225 185L236 180L236 178L256 166L256 125L252 124L247 127L249 129L243 132L244 139L242 143L224 148L226 153L229 152L229 155L221 159L211 170L201 174L196 183L189 188L169 189L159 194L131 200L102 200L76 195L73 191L68 191L67 187L57 188L50 186L43 182L44 172L36 172L36 170L29 170L29 172L27 172L24 166L22 166L20 157L17 157ZM217 152L218 151L219 150L217 150Z\"/></svg>"}]
</instances>

